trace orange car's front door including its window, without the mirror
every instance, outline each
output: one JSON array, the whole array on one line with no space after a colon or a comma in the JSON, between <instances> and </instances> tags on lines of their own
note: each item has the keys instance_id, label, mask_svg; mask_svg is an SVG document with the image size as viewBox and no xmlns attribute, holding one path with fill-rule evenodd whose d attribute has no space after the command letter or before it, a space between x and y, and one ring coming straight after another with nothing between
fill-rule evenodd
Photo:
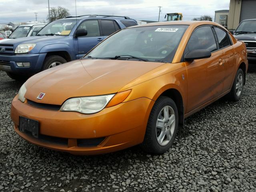
<instances>
[{"instance_id":1,"label":"orange car's front door including its window, without the mirror","mask_svg":"<svg viewBox=\"0 0 256 192\"><path fill-rule=\"evenodd\" d=\"M192 33L184 55L190 50L208 49L212 56L185 62L188 75L187 113L219 96L225 75L222 50L218 50L211 26L201 26Z\"/></svg>"}]
</instances>

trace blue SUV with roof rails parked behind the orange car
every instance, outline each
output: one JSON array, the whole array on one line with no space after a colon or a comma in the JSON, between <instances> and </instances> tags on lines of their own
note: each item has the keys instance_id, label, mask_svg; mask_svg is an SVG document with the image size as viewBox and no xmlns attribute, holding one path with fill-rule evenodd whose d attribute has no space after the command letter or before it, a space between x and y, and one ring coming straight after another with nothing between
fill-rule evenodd
<instances>
[{"instance_id":1,"label":"blue SUV with roof rails parked behind the orange car","mask_svg":"<svg viewBox=\"0 0 256 192\"><path fill-rule=\"evenodd\" d=\"M83 15L50 22L34 37L0 42L0 70L22 80L83 57L110 34L138 25L126 16Z\"/></svg>"}]
</instances>

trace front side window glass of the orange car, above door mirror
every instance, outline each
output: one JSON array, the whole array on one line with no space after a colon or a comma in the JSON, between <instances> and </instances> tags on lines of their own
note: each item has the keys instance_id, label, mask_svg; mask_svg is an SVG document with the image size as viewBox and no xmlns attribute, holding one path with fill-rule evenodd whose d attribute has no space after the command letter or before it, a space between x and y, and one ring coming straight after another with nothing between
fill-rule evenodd
<instances>
[{"instance_id":1,"label":"front side window glass of the orange car, above door mirror","mask_svg":"<svg viewBox=\"0 0 256 192\"><path fill-rule=\"evenodd\" d=\"M208 49L210 52L217 50L214 34L210 26L199 27L192 33L186 46L186 52L195 49Z\"/></svg>"}]
</instances>

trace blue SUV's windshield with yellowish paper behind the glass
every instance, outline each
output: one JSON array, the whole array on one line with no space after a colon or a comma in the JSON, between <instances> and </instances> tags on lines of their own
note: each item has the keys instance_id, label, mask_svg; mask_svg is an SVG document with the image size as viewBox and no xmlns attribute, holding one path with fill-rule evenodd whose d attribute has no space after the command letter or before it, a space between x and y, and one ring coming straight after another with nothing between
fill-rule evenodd
<instances>
[{"instance_id":1,"label":"blue SUV's windshield with yellowish paper behind the glass","mask_svg":"<svg viewBox=\"0 0 256 192\"><path fill-rule=\"evenodd\" d=\"M63 35L68 36L72 28L76 25L76 20L56 20L44 26L37 36L42 35Z\"/></svg>"}]
</instances>

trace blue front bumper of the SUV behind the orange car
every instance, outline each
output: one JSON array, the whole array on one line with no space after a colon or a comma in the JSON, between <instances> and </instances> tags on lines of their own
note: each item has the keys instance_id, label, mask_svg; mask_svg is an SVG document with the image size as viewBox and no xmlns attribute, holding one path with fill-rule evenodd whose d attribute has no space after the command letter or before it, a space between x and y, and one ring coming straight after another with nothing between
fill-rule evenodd
<instances>
[{"instance_id":1,"label":"blue front bumper of the SUV behind the orange car","mask_svg":"<svg viewBox=\"0 0 256 192\"><path fill-rule=\"evenodd\" d=\"M0 70L16 74L32 75L40 72L46 53L0 54ZM30 62L30 67L18 67L16 62Z\"/></svg>"}]
</instances>

